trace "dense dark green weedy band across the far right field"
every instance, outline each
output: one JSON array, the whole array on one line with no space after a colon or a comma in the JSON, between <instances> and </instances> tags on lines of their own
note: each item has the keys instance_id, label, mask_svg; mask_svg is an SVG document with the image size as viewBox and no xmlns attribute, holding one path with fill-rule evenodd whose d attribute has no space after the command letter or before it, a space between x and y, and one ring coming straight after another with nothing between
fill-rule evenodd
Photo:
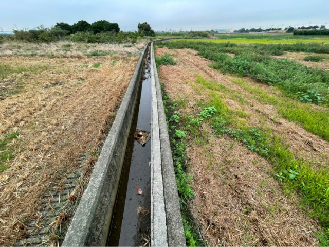
<instances>
[{"instance_id":1,"label":"dense dark green weedy band across the far right field","mask_svg":"<svg viewBox=\"0 0 329 247\"><path fill-rule=\"evenodd\" d=\"M287 92L288 96L303 102L329 105L328 71L307 67L288 59L270 57L270 55L282 55L286 50L329 53L329 46L322 44L237 45L180 40L166 44L169 48L198 50L200 56L214 61L211 67L223 73L250 76L269 85L278 85ZM231 58L227 53L233 53L235 56Z\"/></svg>"}]
</instances>

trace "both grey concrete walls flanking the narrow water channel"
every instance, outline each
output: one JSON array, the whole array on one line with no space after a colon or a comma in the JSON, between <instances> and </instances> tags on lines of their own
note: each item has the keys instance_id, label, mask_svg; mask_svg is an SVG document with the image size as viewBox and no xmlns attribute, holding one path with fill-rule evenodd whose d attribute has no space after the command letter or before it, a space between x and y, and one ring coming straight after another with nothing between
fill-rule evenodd
<instances>
[{"instance_id":1,"label":"both grey concrete walls flanking the narrow water channel","mask_svg":"<svg viewBox=\"0 0 329 247\"><path fill-rule=\"evenodd\" d=\"M149 43L150 44L150 43ZM62 246L105 246L135 112L143 61L151 48L151 245L186 246L153 42L145 47Z\"/></svg>"}]
</instances>

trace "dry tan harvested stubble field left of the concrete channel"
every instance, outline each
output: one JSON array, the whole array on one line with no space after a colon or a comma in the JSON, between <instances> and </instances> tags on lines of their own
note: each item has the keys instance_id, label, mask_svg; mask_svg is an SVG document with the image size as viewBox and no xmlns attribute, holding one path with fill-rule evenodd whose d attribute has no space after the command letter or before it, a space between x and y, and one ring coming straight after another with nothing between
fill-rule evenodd
<instances>
[{"instance_id":1,"label":"dry tan harvested stubble field left of the concrete channel","mask_svg":"<svg viewBox=\"0 0 329 247\"><path fill-rule=\"evenodd\" d=\"M138 59L0 58L12 67L45 66L3 79L23 86L14 94L7 90L0 101L1 135L19 133L7 143L12 159L0 173L0 245L28 238L34 230L49 236L43 244L60 243ZM42 215L49 211L49 217Z\"/></svg>"}]
</instances>

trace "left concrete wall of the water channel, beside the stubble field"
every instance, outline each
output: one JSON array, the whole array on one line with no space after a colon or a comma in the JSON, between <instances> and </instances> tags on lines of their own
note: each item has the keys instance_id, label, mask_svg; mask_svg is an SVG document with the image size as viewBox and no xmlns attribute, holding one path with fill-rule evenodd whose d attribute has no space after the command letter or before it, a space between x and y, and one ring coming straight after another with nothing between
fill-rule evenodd
<instances>
[{"instance_id":1,"label":"left concrete wall of the water channel, beside the stubble field","mask_svg":"<svg viewBox=\"0 0 329 247\"><path fill-rule=\"evenodd\" d=\"M136 107L145 47L62 246L105 246Z\"/></svg>"}]
</instances>

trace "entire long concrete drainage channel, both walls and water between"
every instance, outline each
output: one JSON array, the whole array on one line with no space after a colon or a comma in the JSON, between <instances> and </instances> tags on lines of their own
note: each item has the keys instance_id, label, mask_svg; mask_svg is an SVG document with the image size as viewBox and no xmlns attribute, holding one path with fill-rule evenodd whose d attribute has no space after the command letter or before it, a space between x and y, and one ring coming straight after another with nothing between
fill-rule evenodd
<instances>
[{"instance_id":1,"label":"entire long concrete drainage channel, both walls and water between","mask_svg":"<svg viewBox=\"0 0 329 247\"><path fill-rule=\"evenodd\" d=\"M132 137L139 128L151 130L144 147ZM153 42L138 61L62 246L140 245L140 234L148 233L151 246L186 245Z\"/></svg>"}]
</instances>

